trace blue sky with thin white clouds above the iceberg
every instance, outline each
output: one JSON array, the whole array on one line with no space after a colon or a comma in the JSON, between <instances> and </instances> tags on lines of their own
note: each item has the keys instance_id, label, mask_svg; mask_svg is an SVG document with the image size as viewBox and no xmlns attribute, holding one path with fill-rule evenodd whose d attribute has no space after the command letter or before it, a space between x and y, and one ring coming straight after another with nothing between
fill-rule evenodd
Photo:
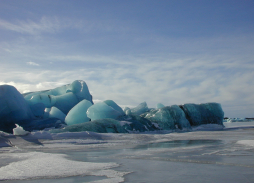
<instances>
[{"instance_id":1,"label":"blue sky with thin white clouds above the iceberg","mask_svg":"<svg viewBox=\"0 0 254 183\"><path fill-rule=\"evenodd\" d=\"M253 0L0 0L0 84L254 117Z\"/></svg>"}]
</instances>

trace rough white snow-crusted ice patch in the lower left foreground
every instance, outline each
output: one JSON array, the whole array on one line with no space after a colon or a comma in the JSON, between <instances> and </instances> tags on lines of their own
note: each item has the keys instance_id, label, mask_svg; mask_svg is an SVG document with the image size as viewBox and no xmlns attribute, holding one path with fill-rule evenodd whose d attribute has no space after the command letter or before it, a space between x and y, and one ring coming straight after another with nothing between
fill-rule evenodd
<instances>
[{"instance_id":1,"label":"rough white snow-crusted ice patch in the lower left foreground","mask_svg":"<svg viewBox=\"0 0 254 183\"><path fill-rule=\"evenodd\" d=\"M123 176L129 173L111 170L119 166L116 163L72 161L64 154L28 152L11 153L8 156L19 160L0 168L0 181L90 175L106 176L108 179L103 179L103 182L113 183L124 181Z\"/></svg>"}]
</instances>

